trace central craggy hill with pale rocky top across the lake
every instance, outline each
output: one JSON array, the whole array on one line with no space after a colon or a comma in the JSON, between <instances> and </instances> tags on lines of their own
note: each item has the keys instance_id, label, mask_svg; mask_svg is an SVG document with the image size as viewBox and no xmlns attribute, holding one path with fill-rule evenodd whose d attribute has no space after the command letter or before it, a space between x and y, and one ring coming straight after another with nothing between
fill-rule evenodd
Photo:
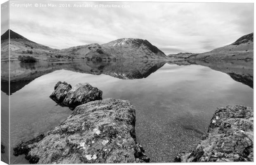
<instances>
[{"instance_id":1,"label":"central craggy hill with pale rocky top across the lake","mask_svg":"<svg viewBox=\"0 0 256 165\"><path fill-rule=\"evenodd\" d=\"M106 44L88 44L83 46L62 49L60 53L66 53L75 57L87 59L137 59L154 60L168 59L156 46L147 40L135 38L123 38Z\"/></svg>"}]
</instances>

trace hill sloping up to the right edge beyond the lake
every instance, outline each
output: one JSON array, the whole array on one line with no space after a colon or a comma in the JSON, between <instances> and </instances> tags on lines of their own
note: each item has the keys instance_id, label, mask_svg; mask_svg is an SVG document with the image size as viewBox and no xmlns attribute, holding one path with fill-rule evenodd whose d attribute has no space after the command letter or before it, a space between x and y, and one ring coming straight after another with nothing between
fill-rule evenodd
<instances>
[{"instance_id":1,"label":"hill sloping up to the right edge beyond the lake","mask_svg":"<svg viewBox=\"0 0 256 165\"><path fill-rule=\"evenodd\" d=\"M206 53L191 55L188 59L253 59L254 33L240 37L236 42Z\"/></svg>"}]
</instances>

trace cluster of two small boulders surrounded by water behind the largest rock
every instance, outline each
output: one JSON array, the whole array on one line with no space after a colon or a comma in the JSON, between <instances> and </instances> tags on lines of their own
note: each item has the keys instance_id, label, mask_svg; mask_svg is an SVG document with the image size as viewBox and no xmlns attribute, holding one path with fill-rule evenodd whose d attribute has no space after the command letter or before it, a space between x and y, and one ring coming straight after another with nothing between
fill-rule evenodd
<instances>
[{"instance_id":1,"label":"cluster of two small boulders surrounded by water behind the largest rock","mask_svg":"<svg viewBox=\"0 0 256 165\"><path fill-rule=\"evenodd\" d=\"M74 88L70 84L59 81L50 98L60 105L76 107L86 102L102 100L102 91L88 83L77 84Z\"/></svg>"}]
</instances>

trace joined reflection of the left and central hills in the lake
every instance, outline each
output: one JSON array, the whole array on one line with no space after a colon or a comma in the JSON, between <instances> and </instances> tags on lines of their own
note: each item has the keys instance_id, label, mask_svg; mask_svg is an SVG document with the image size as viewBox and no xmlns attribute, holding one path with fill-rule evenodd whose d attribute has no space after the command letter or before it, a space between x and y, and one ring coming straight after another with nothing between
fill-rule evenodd
<instances>
[{"instance_id":1,"label":"joined reflection of the left and central hills in the lake","mask_svg":"<svg viewBox=\"0 0 256 165\"><path fill-rule=\"evenodd\" d=\"M159 60L123 60L123 61L83 61L69 63L10 63L10 94L19 91L26 84L55 70L70 70L88 74L107 74L119 79L142 79L162 67L166 61ZM2 75L8 68L8 63L2 63ZM8 94L8 76L1 77L1 91Z\"/></svg>"}]
</instances>

